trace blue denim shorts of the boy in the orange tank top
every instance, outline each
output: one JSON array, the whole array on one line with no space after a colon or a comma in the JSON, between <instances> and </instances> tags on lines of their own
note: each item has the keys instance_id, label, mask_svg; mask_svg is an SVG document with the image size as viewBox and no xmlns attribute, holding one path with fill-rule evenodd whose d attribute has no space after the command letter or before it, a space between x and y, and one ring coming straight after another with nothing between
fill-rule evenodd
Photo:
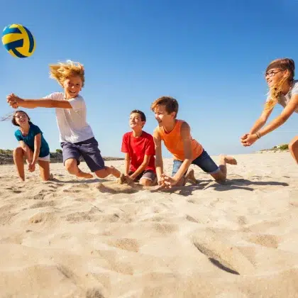
<instances>
[{"instance_id":1,"label":"blue denim shorts of the boy in the orange tank top","mask_svg":"<svg viewBox=\"0 0 298 298\"><path fill-rule=\"evenodd\" d=\"M181 160L174 160L172 176L174 176L178 172L181 165L182 165ZM197 165L198 167L201 167L201 169L208 174L214 174L216 172L219 172L220 170L219 167L214 162L214 160L212 160L212 158L209 156L208 153L206 153L205 150L195 160L192 160L192 165Z\"/></svg>"}]
</instances>

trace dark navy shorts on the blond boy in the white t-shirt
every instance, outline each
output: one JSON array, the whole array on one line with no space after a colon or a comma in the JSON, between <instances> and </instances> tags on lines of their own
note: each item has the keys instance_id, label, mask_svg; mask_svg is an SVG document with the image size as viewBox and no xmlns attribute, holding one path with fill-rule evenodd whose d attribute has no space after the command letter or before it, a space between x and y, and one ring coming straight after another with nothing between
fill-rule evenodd
<instances>
[{"instance_id":1,"label":"dark navy shorts on the blond boy in the white t-shirt","mask_svg":"<svg viewBox=\"0 0 298 298\"><path fill-rule=\"evenodd\" d=\"M95 138L89 138L78 143L63 142L61 143L63 165L65 160L75 158L79 165L79 158L82 156L91 172L104 169L104 160L101 158L99 143Z\"/></svg>"}]
</instances>

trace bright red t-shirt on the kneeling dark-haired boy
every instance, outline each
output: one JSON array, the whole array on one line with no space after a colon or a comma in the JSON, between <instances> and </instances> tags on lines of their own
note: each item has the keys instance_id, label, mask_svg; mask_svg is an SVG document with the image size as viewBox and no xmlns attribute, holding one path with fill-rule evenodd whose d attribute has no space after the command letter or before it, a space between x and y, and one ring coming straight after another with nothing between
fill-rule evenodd
<instances>
[{"instance_id":1,"label":"bright red t-shirt on the kneeling dark-haired boy","mask_svg":"<svg viewBox=\"0 0 298 298\"><path fill-rule=\"evenodd\" d=\"M135 138L133 132L125 133L122 138L121 152L128 153L131 158L129 170L136 172L138 167L144 161L145 155L150 155L148 166L145 170L153 170L155 172L155 145L153 136L145 131L141 136Z\"/></svg>"}]
</instances>

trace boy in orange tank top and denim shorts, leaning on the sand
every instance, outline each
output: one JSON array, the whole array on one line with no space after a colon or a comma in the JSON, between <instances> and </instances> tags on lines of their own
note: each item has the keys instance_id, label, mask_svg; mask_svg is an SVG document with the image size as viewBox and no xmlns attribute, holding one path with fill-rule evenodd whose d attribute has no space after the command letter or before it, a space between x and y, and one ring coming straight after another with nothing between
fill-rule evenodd
<instances>
[{"instance_id":1,"label":"boy in orange tank top and denim shorts, leaning on the sand","mask_svg":"<svg viewBox=\"0 0 298 298\"><path fill-rule=\"evenodd\" d=\"M204 172L209 173L217 182L224 182L226 180L226 164L236 165L235 158L221 155L220 165L217 166L202 145L192 138L187 122L176 119L178 108L177 100L170 96L162 96L151 104L151 110L158 121L158 127L155 128L153 133L158 184L163 187L184 185L190 175L193 175L193 172L189 171L188 175L185 176L191 164L201 167ZM172 177L165 175L163 172L162 140L167 150L174 157Z\"/></svg>"}]
</instances>

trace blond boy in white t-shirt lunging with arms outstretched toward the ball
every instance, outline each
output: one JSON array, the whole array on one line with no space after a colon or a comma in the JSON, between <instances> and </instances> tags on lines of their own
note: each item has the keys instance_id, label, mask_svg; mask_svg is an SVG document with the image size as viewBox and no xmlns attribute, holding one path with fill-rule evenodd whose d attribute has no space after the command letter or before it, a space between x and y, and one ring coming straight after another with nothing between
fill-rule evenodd
<instances>
[{"instance_id":1,"label":"blond boy in white t-shirt lunging with arms outstretched toward the ball","mask_svg":"<svg viewBox=\"0 0 298 298\"><path fill-rule=\"evenodd\" d=\"M50 65L50 77L60 84L64 92L55 92L43 99L21 99L15 94L10 94L7 96L8 103L13 108L55 108L63 164L70 174L82 178L93 177L92 174L79 169L79 158L82 156L97 177L119 177L120 172L116 168L104 165L97 140L87 123L86 104L79 95L85 82L83 65L72 61Z\"/></svg>"}]
</instances>

